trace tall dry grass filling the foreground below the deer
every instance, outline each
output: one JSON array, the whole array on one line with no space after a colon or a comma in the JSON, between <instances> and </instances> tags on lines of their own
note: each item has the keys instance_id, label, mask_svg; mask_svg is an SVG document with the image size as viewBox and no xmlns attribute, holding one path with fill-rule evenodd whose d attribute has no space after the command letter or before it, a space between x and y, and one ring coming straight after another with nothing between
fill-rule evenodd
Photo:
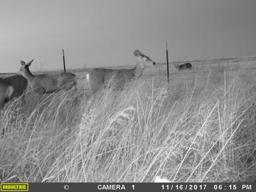
<instances>
[{"instance_id":1,"label":"tall dry grass filling the foreground below the deer","mask_svg":"<svg viewBox=\"0 0 256 192\"><path fill-rule=\"evenodd\" d=\"M255 106L239 77L17 99L0 117L0 182L255 181Z\"/></svg>"}]
</instances>

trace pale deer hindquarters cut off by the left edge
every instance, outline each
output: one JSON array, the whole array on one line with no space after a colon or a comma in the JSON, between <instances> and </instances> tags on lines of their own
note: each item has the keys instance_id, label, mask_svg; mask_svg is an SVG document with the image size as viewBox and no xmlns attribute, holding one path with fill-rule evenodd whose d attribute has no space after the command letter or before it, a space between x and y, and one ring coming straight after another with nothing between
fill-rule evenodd
<instances>
[{"instance_id":1,"label":"pale deer hindquarters cut off by the left edge","mask_svg":"<svg viewBox=\"0 0 256 192\"><path fill-rule=\"evenodd\" d=\"M4 107L4 103L11 99L13 90L12 84L0 78L0 109Z\"/></svg>"}]
</instances>

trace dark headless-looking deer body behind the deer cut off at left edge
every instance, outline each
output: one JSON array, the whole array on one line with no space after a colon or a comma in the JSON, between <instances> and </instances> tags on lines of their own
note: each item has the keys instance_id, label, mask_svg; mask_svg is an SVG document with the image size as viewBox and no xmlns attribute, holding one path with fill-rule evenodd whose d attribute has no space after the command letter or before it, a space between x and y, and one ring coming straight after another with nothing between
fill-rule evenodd
<instances>
[{"instance_id":1,"label":"dark headless-looking deer body behind the deer cut off at left edge","mask_svg":"<svg viewBox=\"0 0 256 192\"><path fill-rule=\"evenodd\" d=\"M14 92L11 99L22 95L22 102L25 102L24 92L28 87L28 80L20 75L6 77L4 80L13 86Z\"/></svg>"}]
</instances>

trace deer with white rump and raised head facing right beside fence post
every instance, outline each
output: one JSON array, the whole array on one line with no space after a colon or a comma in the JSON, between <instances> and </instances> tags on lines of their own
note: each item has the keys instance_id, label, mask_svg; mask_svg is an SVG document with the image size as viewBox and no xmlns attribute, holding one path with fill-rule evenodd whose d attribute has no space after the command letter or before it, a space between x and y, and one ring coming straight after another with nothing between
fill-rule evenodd
<instances>
[{"instance_id":1,"label":"deer with white rump and raised head facing right beside fence post","mask_svg":"<svg viewBox=\"0 0 256 192\"><path fill-rule=\"evenodd\" d=\"M124 84L137 79L143 74L145 67L154 66L156 63L148 56L145 56L138 49L134 50L134 56L138 58L138 62L134 68L131 69L110 69L110 68L93 68L86 79L90 86L90 92L93 94L100 90L100 88L108 87L109 81L113 78L116 81L115 88L118 90L124 87Z\"/></svg>"}]
</instances>

